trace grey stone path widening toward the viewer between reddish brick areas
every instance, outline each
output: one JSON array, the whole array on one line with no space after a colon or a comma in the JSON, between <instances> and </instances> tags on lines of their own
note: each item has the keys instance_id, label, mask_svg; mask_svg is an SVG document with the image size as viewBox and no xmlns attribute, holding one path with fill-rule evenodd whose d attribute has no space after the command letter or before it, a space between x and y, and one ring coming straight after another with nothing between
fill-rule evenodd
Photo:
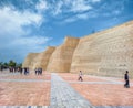
<instances>
[{"instance_id":1,"label":"grey stone path widening toward the viewer between reddish brick areas","mask_svg":"<svg viewBox=\"0 0 133 108\"><path fill-rule=\"evenodd\" d=\"M57 74L51 78L51 108L94 108Z\"/></svg>"}]
</instances>

